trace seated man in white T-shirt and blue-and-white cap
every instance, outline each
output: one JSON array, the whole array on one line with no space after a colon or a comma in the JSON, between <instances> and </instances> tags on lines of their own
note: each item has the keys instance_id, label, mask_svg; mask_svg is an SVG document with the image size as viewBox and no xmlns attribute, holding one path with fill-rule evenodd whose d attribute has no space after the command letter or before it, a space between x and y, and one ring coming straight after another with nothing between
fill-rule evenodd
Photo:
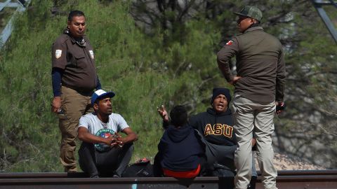
<instances>
[{"instance_id":1,"label":"seated man in white T-shirt and blue-and-white cap","mask_svg":"<svg viewBox=\"0 0 337 189\"><path fill-rule=\"evenodd\" d=\"M79 165L90 177L121 177L131 160L134 133L121 115L112 113L114 92L96 90L91 97L95 112L79 119ZM126 137L121 137L124 132Z\"/></svg>"}]
</instances>

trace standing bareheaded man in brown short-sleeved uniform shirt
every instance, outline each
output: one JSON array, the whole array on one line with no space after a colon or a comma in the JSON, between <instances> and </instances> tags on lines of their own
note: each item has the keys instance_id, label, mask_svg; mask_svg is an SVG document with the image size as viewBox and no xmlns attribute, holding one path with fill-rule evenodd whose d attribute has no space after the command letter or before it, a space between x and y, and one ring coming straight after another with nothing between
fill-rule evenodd
<instances>
[{"instance_id":1,"label":"standing bareheaded man in brown short-sleeved uniform shirt","mask_svg":"<svg viewBox=\"0 0 337 189\"><path fill-rule=\"evenodd\" d=\"M62 133L60 161L65 172L77 172L76 148L79 118L93 111L91 95L100 89L95 69L95 55L86 31L83 12L73 10L63 31L52 47L53 101L51 111L58 113Z\"/></svg>"}]
</instances>

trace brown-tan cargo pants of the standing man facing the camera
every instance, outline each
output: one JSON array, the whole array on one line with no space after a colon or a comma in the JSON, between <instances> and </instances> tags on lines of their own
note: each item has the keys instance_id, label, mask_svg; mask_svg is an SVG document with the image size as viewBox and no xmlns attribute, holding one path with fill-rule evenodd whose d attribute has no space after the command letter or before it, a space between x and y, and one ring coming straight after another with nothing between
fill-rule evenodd
<instances>
[{"instance_id":1,"label":"brown-tan cargo pants of the standing man facing the camera","mask_svg":"<svg viewBox=\"0 0 337 189\"><path fill-rule=\"evenodd\" d=\"M75 153L79 118L85 113L93 112L91 94L80 94L69 87L61 87L61 100L64 113L59 114L59 127L62 134L60 161L65 172L77 172Z\"/></svg>"}]
</instances>

